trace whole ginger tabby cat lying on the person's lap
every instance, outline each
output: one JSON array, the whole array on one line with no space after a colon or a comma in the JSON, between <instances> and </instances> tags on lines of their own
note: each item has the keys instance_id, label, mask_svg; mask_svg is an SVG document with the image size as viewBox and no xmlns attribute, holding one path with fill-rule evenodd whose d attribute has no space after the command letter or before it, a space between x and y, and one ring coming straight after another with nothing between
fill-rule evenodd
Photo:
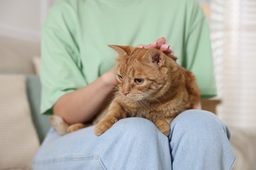
<instances>
[{"instance_id":1,"label":"whole ginger tabby cat lying on the person's lap","mask_svg":"<svg viewBox=\"0 0 256 170\"><path fill-rule=\"evenodd\" d=\"M101 135L118 120L127 117L151 120L164 135L169 135L171 121L178 114L199 109L200 92L196 80L190 71L176 63L177 58L156 48L109 46L119 54L116 59L118 91L107 113L100 113L100 118L93 121L95 135ZM55 123L55 129L58 126ZM63 127L75 131L85 126Z\"/></svg>"}]
</instances>

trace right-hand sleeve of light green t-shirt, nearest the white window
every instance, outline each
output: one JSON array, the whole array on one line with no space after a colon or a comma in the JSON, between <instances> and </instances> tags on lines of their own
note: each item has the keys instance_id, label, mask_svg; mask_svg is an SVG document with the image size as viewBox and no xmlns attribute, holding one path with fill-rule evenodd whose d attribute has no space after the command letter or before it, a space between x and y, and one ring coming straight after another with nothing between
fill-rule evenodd
<instances>
[{"instance_id":1,"label":"right-hand sleeve of light green t-shirt, nearest the white window","mask_svg":"<svg viewBox=\"0 0 256 170\"><path fill-rule=\"evenodd\" d=\"M193 10L185 41L184 67L196 76L201 96L205 99L217 95L210 33L202 9L195 5Z\"/></svg>"}]
</instances>

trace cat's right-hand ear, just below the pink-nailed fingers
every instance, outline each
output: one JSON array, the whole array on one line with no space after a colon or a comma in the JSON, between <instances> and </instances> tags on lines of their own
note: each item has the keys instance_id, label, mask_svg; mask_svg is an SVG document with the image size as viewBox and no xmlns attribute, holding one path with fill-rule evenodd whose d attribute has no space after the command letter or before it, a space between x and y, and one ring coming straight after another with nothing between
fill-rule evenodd
<instances>
[{"instance_id":1,"label":"cat's right-hand ear, just below the pink-nailed fingers","mask_svg":"<svg viewBox=\"0 0 256 170\"><path fill-rule=\"evenodd\" d=\"M148 58L150 59L150 62L158 65L161 67L164 63L164 56L163 53L159 50L156 50L155 48L151 48L148 50L147 54Z\"/></svg>"}]
</instances>

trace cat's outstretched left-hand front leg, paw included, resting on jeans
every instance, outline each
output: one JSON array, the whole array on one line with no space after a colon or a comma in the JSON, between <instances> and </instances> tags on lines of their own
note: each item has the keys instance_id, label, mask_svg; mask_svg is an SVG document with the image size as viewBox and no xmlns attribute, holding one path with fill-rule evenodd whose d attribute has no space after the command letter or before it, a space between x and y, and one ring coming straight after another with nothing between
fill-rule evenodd
<instances>
[{"instance_id":1,"label":"cat's outstretched left-hand front leg, paw included, resting on jeans","mask_svg":"<svg viewBox=\"0 0 256 170\"><path fill-rule=\"evenodd\" d=\"M121 106L120 103L113 101L108 110L108 114L95 126L95 135L100 136L102 133L110 129L119 119L123 118L121 116Z\"/></svg>"}]
</instances>

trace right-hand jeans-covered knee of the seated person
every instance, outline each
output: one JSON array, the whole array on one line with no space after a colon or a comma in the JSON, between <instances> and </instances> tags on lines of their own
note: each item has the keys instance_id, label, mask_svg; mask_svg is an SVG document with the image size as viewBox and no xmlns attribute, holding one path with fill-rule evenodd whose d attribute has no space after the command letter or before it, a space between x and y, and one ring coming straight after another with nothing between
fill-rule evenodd
<instances>
[{"instance_id":1,"label":"right-hand jeans-covered knee of the seated person","mask_svg":"<svg viewBox=\"0 0 256 170\"><path fill-rule=\"evenodd\" d=\"M171 129L173 169L230 169L234 163L228 129L215 114L186 110L173 120Z\"/></svg>"}]
</instances>

